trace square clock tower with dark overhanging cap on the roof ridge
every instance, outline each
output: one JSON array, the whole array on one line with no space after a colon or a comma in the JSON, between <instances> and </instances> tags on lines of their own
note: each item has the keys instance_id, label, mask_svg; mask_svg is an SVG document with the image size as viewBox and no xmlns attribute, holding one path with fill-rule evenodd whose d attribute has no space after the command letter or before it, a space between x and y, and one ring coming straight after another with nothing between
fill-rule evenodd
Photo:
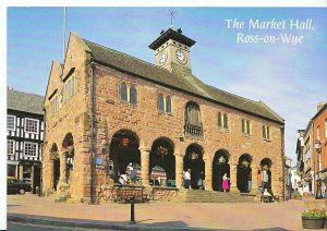
<instances>
[{"instance_id":1,"label":"square clock tower with dark overhanging cap on the roof ridge","mask_svg":"<svg viewBox=\"0 0 327 231\"><path fill-rule=\"evenodd\" d=\"M191 73L190 48L195 41L182 34L182 29L161 31L160 36L149 45L155 51L156 65L171 72Z\"/></svg>"}]
</instances>

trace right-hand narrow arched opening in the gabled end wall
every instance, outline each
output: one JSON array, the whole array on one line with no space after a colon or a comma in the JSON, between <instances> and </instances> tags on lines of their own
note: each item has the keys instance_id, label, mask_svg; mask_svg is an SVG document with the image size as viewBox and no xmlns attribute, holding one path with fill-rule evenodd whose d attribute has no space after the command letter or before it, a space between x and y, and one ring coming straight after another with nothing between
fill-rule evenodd
<instances>
[{"instance_id":1,"label":"right-hand narrow arched opening in the gabled end wall","mask_svg":"<svg viewBox=\"0 0 327 231\"><path fill-rule=\"evenodd\" d=\"M71 171L74 165L74 138L72 133L68 133L62 141L62 149L65 151L65 162L62 167L65 167L65 182L70 182Z\"/></svg>"}]
</instances>

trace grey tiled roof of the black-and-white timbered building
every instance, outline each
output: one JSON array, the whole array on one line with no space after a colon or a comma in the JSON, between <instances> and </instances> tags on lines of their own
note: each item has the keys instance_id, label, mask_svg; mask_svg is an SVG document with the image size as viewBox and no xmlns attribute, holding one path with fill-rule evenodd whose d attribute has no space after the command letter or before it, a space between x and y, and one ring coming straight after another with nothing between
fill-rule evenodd
<instances>
[{"instance_id":1,"label":"grey tiled roof of the black-and-white timbered building","mask_svg":"<svg viewBox=\"0 0 327 231\"><path fill-rule=\"evenodd\" d=\"M44 114L44 100L39 95L7 89L7 109Z\"/></svg>"}]
</instances>

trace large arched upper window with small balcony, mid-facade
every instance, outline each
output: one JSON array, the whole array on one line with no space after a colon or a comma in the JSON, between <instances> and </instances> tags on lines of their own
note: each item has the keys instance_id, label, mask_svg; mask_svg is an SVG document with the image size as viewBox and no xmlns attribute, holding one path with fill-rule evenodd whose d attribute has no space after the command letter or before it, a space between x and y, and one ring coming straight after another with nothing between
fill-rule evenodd
<instances>
[{"instance_id":1,"label":"large arched upper window with small balcony, mid-facade","mask_svg":"<svg viewBox=\"0 0 327 231\"><path fill-rule=\"evenodd\" d=\"M201 136L203 134L199 107L192 101L185 106L184 132L192 136Z\"/></svg>"}]
</instances>

